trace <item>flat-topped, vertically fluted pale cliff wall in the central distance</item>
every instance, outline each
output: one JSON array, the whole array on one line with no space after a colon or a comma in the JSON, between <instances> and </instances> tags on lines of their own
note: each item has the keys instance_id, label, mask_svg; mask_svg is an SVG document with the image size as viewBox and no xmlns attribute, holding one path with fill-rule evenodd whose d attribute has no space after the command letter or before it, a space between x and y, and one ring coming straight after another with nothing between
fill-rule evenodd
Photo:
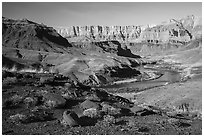
<instances>
[{"instance_id":1,"label":"flat-topped, vertically fluted pale cliff wall in the central distance","mask_svg":"<svg viewBox=\"0 0 204 137\"><path fill-rule=\"evenodd\" d=\"M86 37L85 41L132 41L138 39L142 31L140 26L72 26L55 29L63 37Z\"/></svg>"}]
</instances>

